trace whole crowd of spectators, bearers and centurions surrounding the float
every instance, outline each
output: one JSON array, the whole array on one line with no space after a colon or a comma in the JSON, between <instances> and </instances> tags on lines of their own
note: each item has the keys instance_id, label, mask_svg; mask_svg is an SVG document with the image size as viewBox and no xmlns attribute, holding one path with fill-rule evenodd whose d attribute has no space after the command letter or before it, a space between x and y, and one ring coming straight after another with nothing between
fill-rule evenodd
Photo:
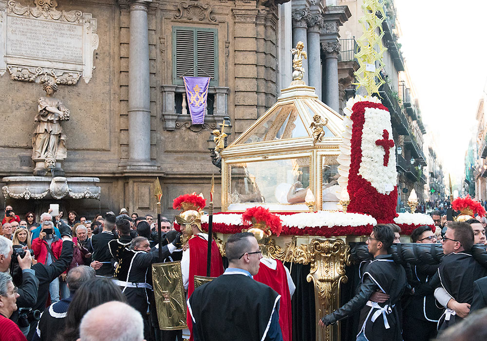
<instances>
[{"instance_id":1,"label":"whole crowd of spectators, bearers and centurions surrounding the float","mask_svg":"<svg viewBox=\"0 0 487 341\"><path fill-rule=\"evenodd\" d=\"M125 208L92 220L74 211L65 220L48 211L37 223L34 213L21 220L7 206L0 229L0 341L291 341L295 286L289 270L263 258L264 245L242 232L227 240L226 268L212 242L211 276L218 279L196 288L194 276L206 275L208 235L199 216L187 212L177 217L181 231L187 225L183 234L162 218L159 244L153 216L129 216ZM487 262L472 256L474 245L485 253L487 222L452 222L439 210L431 215L436 228L416 228L411 241L441 243L439 264L397 262L391 246L401 243L400 228L377 225L366 242L370 259L357 265L356 296L318 324L360 312L358 341L484 335L486 328L470 321L487 316ZM159 328L150 268L173 261L181 261L189 298L187 334Z\"/></svg>"}]
</instances>

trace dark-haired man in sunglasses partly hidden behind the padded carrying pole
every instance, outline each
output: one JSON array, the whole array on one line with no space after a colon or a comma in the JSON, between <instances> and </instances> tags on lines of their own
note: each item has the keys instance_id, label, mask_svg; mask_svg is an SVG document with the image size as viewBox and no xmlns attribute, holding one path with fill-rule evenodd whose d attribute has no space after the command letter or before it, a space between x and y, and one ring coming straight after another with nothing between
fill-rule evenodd
<instances>
[{"instance_id":1,"label":"dark-haired man in sunglasses partly hidden behind the padded carrying pole","mask_svg":"<svg viewBox=\"0 0 487 341\"><path fill-rule=\"evenodd\" d=\"M437 227L438 228L438 227ZM411 233L413 243L436 243L431 227L421 226ZM438 265L411 265L414 290L409 303L403 310L404 341L428 341L436 337L436 323L443 310L436 307L434 287L428 285L438 271Z\"/></svg>"}]
</instances>

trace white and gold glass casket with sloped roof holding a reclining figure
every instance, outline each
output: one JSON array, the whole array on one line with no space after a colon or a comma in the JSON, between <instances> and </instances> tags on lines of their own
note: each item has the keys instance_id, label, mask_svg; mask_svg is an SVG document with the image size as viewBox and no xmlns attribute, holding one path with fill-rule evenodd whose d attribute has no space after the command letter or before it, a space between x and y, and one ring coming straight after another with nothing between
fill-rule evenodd
<instances>
[{"instance_id":1,"label":"white and gold glass casket with sloped roof holding a reclining figure","mask_svg":"<svg viewBox=\"0 0 487 341\"><path fill-rule=\"evenodd\" d=\"M305 85L281 91L277 102L222 156L222 209L256 205L274 212L337 210L338 145L343 118Z\"/></svg>"}]
</instances>

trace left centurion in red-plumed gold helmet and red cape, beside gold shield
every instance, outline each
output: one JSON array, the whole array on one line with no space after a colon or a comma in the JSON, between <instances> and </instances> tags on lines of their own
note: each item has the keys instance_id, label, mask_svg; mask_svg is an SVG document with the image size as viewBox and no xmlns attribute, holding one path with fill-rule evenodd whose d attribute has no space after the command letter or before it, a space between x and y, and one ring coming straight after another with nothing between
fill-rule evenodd
<instances>
[{"instance_id":1,"label":"left centurion in red-plumed gold helmet and red cape, beside gold shield","mask_svg":"<svg viewBox=\"0 0 487 341\"><path fill-rule=\"evenodd\" d=\"M201 210L205 208L206 199L203 195L185 194L174 199L172 208L183 209L175 216L179 227L176 230L183 233L183 258L181 260L181 273L183 284L187 290L187 298L194 291L194 276L206 276L206 256L208 251L208 234L201 228ZM193 234L192 227L196 226L199 233ZM223 274L223 260L215 241L211 243L210 277L218 277ZM189 332L192 329L191 317L187 312L187 326ZM183 331L183 335L186 333ZM192 340L192 335L190 340Z\"/></svg>"}]
</instances>

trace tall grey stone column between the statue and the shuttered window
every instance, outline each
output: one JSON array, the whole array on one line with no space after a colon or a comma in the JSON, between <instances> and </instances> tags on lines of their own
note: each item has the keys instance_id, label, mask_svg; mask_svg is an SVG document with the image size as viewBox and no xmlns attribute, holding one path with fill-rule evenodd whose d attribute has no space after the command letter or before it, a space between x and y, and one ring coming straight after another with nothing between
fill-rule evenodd
<instances>
[{"instance_id":1,"label":"tall grey stone column between the statue and the shuttered window","mask_svg":"<svg viewBox=\"0 0 487 341\"><path fill-rule=\"evenodd\" d=\"M148 2L130 2L129 167L150 164Z\"/></svg>"}]
</instances>

